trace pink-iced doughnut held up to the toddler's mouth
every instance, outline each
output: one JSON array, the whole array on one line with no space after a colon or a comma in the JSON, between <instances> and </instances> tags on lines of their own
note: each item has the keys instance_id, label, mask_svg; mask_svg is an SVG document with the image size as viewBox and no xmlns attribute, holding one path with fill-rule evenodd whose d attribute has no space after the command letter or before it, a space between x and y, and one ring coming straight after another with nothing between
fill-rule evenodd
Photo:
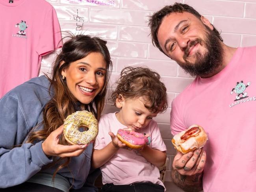
<instances>
[{"instance_id":1,"label":"pink-iced doughnut held up to the toddler's mouth","mask_svg":"<svg viewBox=\"0 0 256 192\"><path fill-rule=\"evenodd\" d=\"M145 144L150 144L151 138L147 137L146 134L137 133L128 129L118 129L117 138L126 146L139 149L142 148Z\"/></svg>"}]
</instances>

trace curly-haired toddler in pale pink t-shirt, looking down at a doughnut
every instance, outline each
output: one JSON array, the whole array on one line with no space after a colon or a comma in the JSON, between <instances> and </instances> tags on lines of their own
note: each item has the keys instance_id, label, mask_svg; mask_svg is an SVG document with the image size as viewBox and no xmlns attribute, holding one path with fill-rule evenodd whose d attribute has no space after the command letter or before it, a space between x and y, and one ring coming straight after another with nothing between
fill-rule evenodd
<instances>
[{"instance_id":1,"label":"curly-haired toddler in pale pink t-shirt, looking down at a doughnut","mask_svg":"<svg viewBox=\"0 0 256 192\"><path fill-rule=\"evenodd\" d=\"M93 168L102 172L102 192L163 192L158 167L166 161L166 146L157 123L152 120L167 109L165 85L160 75L148 68L126 67L111 94L119 112L105 114L92 156ZM118 129L150 135L151 143L135 150L117 137Z\"/></svg>"}]
</instances>

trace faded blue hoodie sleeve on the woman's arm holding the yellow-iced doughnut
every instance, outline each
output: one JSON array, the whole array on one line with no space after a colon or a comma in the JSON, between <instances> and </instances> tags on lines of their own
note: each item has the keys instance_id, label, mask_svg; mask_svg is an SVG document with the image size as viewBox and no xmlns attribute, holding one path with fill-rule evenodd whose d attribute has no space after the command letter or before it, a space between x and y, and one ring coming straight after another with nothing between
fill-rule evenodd
<instances>
[{"instance_id":1,"label":"faded blue hoodie sleeve on the woman's arm holding the yellow-iced doughnut","mask_svg":"<svg viewBox=\"0 0 256 192\"><path fill-rule=\"evenodd\" d=\"M42 142L22 144L30 129L18 100L12 96L0 99L0 188L19 185L52 162ZM20 146L13 148L16 145Z\"/></svg>"}]
</instances>

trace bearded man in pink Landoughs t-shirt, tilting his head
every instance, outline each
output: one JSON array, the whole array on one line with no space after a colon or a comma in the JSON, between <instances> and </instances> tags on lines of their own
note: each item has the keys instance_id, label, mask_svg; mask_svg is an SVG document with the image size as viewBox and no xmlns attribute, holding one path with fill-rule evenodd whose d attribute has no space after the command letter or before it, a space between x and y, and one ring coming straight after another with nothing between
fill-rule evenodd
<instances>
[{"instance_id":1,"label":"bearded man in pink Landoughs t-shirt, tilting his head","mask_svg":"<svg viewBox=\"0 0 256 192\"><path fill-rule=\"evenodd\" d=\"M256 47L225 45L186 4L163 7L149 26L153 44L195 76L172 103L172 134L199 124L209 139L203 149L177 152L174 183L185 191L256 191Z\"/></svg>"}]
</instances>

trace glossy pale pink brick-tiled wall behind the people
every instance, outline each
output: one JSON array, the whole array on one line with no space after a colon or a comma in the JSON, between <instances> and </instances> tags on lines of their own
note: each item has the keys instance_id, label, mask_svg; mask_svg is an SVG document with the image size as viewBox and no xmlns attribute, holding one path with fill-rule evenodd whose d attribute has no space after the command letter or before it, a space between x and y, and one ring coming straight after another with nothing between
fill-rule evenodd
<instances>
[{"instance_id":1,"label":"glossy pale pink brick-tiled wall behind the people","mask_svg":"<svg viewBox=\"0 0 256 192\"><path fill-rule=\"evenodd\" d=\"M147 16L161 7L182 2L193 6L222 31L229 46L256 45L256 0L48 0L56 9L61 30L74 34L96 35L108 40L113 60L111 82L124 66L148 66L162 77L167 87L169 106L193 79L172 60L152 46ZM105 3L105 4L104 4ZM43 58L40 75L51 71L55 54ZM116 109L109 103L105 113ZM169 113L158 115L158 122L167 146L168 158L173 159ZM166 180L170 181L171 161Z\"/></svg>"}]
</instances>

